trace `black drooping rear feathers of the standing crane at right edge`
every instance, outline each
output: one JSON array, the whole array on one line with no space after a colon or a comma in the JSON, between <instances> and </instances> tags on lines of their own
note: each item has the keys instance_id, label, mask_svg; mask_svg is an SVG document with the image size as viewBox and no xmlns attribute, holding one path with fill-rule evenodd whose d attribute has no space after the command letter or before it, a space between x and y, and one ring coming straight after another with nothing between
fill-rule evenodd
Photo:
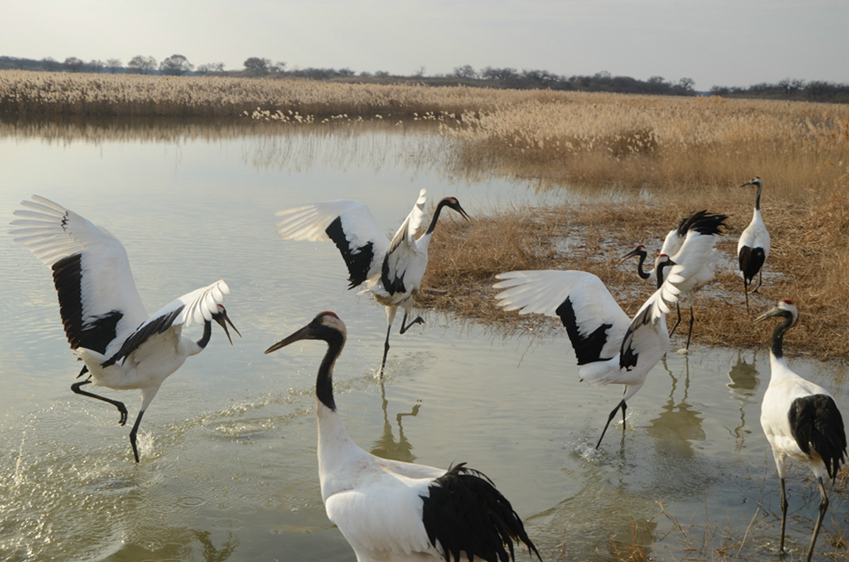
<instances>
[{"instance_id":1,"label":"black drooping rear feathers of the standing crane at right edge","mask_svg":"<svg viewBox=\"0 0 849 562\"><path fill-rule=\"evenodd\" d=\"M816 452L832 480L846 456L846 430L834 399L825 394L796 398L790 406L790 431L802 452Z\"/></svg>"}]
</instances>

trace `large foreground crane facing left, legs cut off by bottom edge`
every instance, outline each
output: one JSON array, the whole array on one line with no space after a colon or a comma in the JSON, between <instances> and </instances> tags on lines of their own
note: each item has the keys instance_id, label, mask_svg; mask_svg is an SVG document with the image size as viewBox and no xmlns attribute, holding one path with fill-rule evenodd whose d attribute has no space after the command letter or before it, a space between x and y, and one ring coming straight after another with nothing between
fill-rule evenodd
<instances>
[{"instance_id":1,"label":"large foreground crane facing left, legs cut off by bottom edge","mask_svg":"<svg viewBox=\"0 0 849 562\"><path fill-rule=\"evenodd\" d=\"M465 464L437 469L375 457L357 447L333 396L333 369L346 328L321 312L271 353L299 340L322 340L327 351L316 379L318 479L327 515L359 562L515 559L513 542L537 548L506 497Z\"/></svg>"}]
</instances>

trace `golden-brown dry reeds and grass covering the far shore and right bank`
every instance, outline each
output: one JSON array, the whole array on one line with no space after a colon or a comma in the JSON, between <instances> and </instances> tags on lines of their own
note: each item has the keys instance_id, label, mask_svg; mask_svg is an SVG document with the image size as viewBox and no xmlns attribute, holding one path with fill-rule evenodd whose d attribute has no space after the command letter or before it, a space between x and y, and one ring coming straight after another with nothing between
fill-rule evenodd
<instances>
[{"instance_id":1,"label":"golden-brown dry reeds and grass covering the far shore and right bank","mask_svg":"<svg viewBox=\"0 0 849 562\"><path fill-rule=\"evenodd\" d=\"M754 200L753 190L734 186L759 175L773 251L754 306L762 310L784 297L797 301L803 322L789 343L816 357L849 357L846 105L0 70L0 114L246 115L257 126L310 127L363 119L436 121L453 142L449 165L456 171L530 178L540 188L565 186L599 201L470 210L475 222L444 222L425 283L447 292L424 294L420 304L466 318L515 322L515 314L492 306L493 276L543 267L596 273L633 312L650 288L638 283L633 263L617 266L616 257L637 242L657 250L666 231L692 211L726 213L720 249L728 261L714 288L697 296L695 329L697 342L722 345L763 345L767 339L768 329L754 329L745 315L733 265L737 235ZM192 134L182 125L174 134ZM520 324L528 322L534 320Z\"/></svg>"}]
</instances>

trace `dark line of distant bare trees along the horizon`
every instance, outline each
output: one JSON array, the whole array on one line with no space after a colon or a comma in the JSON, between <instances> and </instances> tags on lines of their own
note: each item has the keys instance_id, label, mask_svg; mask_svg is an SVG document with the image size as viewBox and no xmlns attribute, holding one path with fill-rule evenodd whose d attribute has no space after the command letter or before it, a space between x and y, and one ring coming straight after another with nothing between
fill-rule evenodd
<instances>
[{"instance_id":1,"label":"dark line of distant bare trees along the horizon","mask_svg":"<svg viewBox=\"0 0 849 562\"><path fill-rule=\"evenodd\" d=\"M240 70L225 70L224 63L207 63L195 67L182 54L172 54L157 62L152 56L136 55L127 65L121 59L107 59L105 62L92 59L88 62L77 57L68 57L62 62L47 57L45 59L21 59L0 56L0 70L43 70L52 72L109 72L111 74L157 74L157 75L218 75L218 76L271 76L298 77L312 80L333 81L417 81L434 86L463 83L467 86L503 87L515 89L543 88L576 92L612 92L644 93L678 96L699 95L694 89L691 78L667 81L663 76L651 76L648 80L639 80L631 76L611 76L601 71L593 76L556 75L548 70L516 70L514 68L495 68L486 66L475 70L471 65L456 66L447 75L424 76L424 66L411 76L392 76L384 70L363 71L357 74L349 68L286 68L283 61L274 62L264 57L249 57ZM711 95L729 98L771 98L797 99L805 101L824 101L849 103L849 84L829 81L804 81L785 78L777 84L762 82L749 87L714 86Z\"/></svg>"}]
</instances>

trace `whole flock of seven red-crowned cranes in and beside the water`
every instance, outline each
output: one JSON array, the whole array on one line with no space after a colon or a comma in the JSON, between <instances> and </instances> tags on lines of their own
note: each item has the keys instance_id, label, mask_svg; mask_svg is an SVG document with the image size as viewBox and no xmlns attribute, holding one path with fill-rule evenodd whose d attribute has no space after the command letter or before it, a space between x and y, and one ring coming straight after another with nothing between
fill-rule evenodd
<instances>
[{"instance_id":1,"label":"whole flock of seven red-crowned cranes in and beside the water","mask_svg":"<svg viewBox=\"0 0 849 562\"><path fill-rule=\"evenodd\" d=\"M739 269L749 309L750 285L769 255L769 235L761 216L762 181L755 177L742 186L757 188L754 216L738 244ZM386 338L380 376L383 376L393 320L403 307L400 333L417 323L408 322L413 297L420 289L427 265L427 250L443 208L469 220L457 199L439 201L424 233L424 189L400 228L389 239L374 221L368 207L349 200L329 201L279 211L277 229L284 239L332 240L346 263L350 288L364 292L385 306ZM231 345L228 326L236 334L223 306L229 292L223 280L196 289L149 315L132 278L127 252L104 228L37 195L22 202L11 231L16 241L53 271L59 309L70 347L84 367L71 390L109 402L127 423L122 402L83 386L116 390L137 389L142 402L130 432L133 456L138 463L137 433L142 416L162 382L177 371L187 357L200 353L211 339L211 322L220 324ZM711 281L717 263L715 245L722 235L725 215L706 211L684 217L663 242L655 268L644 271L648 252L643 244L623 257L638 256L641 278L656 288L638 312L629 318L592 273L580 271L514 271L500 273L496 300L506 310L540 313L559 318L575 352L578 373L591 385L624 386L621 401L610 412L596 444L598 448L610 422L621 410L625 423L627 401L644 385L649 371L669 346L666 314L672 305ZM756 288L757 289L757 288ZM754 290L756 290L754 289ZM771 375L762 402L761 424L773 448L781 489L781 540L787 500L784 493L786 459L807 464L818 482L821 501L807 560L828 507L824 489L846 456L846 434L841 413L824 388L802 379L787 366L783 337L798 320L796 306L779 301L755 319L778 317L770 348ZM200 340L183 336L183 327L203 325ZM690 305L689 348L693 327ZM239 334L240 336L241 334ZM299 340L322 340L327 351L318 367L316 415L318 419L318 476L328 517L350 543L357 560L460 560L514 559L514 542L524 543L529 554L541 559L522 521L492 481L465 464L437 469L376 457L351 440L336 410L333 370L346 343L346 326L334 312L321 312L303 328L278 341L270 353Z\"/></svg>"}]
</instances>

